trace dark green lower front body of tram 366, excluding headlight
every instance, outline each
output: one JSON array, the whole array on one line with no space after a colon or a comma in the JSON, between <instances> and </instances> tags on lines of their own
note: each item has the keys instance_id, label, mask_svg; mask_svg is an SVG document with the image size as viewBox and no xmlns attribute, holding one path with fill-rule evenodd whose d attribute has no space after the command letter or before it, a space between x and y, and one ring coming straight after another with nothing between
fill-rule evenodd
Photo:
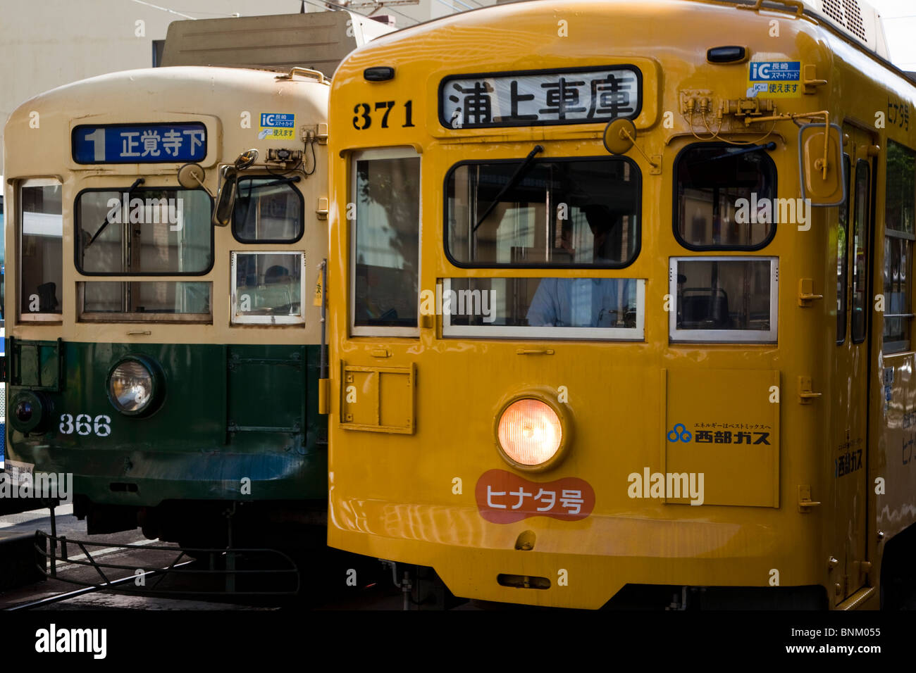
<instances>
[{"instance_id":1,"label":"dark green lower front body of tram 366, excluding headlight","mask_svg":"<svg viewBox=\"0 0 916 673\"><path fill-rule=\"evenodd\" d=\"M95 505L327 497L317 345L11 339L7 353L7 416L27 398L43 414L28 432L7 423L8 459L71 474L74 494ZM159 370L142 418L108 396L108 375L128 356Z\"/></svg>"}]
</instances>

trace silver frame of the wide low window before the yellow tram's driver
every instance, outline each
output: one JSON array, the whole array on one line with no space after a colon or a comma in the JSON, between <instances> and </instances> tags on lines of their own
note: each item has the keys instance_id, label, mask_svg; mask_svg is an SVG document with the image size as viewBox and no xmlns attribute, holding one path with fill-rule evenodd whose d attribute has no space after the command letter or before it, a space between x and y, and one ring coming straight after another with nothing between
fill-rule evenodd
<instances>
[{"instance_id":1,"label":"silver frame of the wide low window before the yellow tram's driver","mask_svg":"<svg viewBox=\"0 0 916 673\"><path fill-rule=\"evenodd\" d=\"M500 278L514 279L517 276ZM553 276L541 279L553 278ZM581 277L580 277L581 278ZM593 278L593 277L588 277ZM576 280L577 277L564 277ZM645 342L646 341L646 278L601 277L602 280L636 281L636 326L635 327L531 327L521 325L453 325L452 314L442 312L442 338L474 339L523 339L536 341L576 340L602 342ZM442 278L442 294L452 289L453 278Z\"/></svg>"}]
</instances>

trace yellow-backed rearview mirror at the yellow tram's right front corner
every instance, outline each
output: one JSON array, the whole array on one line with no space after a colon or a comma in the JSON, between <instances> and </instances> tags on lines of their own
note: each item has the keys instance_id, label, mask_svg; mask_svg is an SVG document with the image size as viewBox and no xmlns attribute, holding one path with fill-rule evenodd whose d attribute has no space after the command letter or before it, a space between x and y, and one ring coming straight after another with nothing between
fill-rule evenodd
<instances>
[{"instance_id":1,"label":"yellow-backed rearview mirror at the yellow tram's right front corner","mask_svg":"<svg viewBox=\"0 0 916 673\"><path fill-rule=\"evenodd\" d=\"M799 170L802 198L812 206L838 206L846 200L842 131L832 124L806 124L799 129Z\"/></svg>"}]
</instances>

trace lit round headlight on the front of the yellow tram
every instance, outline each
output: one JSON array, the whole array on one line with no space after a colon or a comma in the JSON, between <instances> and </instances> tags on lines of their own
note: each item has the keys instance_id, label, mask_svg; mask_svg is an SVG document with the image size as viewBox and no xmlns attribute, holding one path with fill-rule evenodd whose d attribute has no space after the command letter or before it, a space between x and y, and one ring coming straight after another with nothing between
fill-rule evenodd
<instances>
[{"instance_id":1,"label":"lit round headlight on the front of the yellow tram","mask_svg":"<svg viewBox=\"0 0 916 673\"><path fill-rule=\"evenodd\" d=\"M519 465L542 465L560 450L563 428L560 417L540 399L518 399L499 417L499 448Z\"/></svg>"}]
</instances>

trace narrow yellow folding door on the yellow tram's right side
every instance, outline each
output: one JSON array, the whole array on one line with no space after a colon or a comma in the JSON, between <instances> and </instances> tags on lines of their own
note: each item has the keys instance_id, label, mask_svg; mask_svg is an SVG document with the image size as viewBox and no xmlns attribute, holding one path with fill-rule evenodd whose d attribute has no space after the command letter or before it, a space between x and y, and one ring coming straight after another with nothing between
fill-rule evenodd
<instances>
[{"instance_id":1,"label":"narrow yellow folding door on the yellow tram's right side","mask_svg":"<svg viewBox=\"0 0 916 673\"><path fill-rule=\"evenodd\" d=\"M865 131L844 126L848 200L838 209L836 360L831 395L830 466L834 502L824 503L834 521L830 580L832 601L843 602L867 581L868 364L875 161ZM835 559L835 562L834 560Z\"/></svg>"}]
</instances>

